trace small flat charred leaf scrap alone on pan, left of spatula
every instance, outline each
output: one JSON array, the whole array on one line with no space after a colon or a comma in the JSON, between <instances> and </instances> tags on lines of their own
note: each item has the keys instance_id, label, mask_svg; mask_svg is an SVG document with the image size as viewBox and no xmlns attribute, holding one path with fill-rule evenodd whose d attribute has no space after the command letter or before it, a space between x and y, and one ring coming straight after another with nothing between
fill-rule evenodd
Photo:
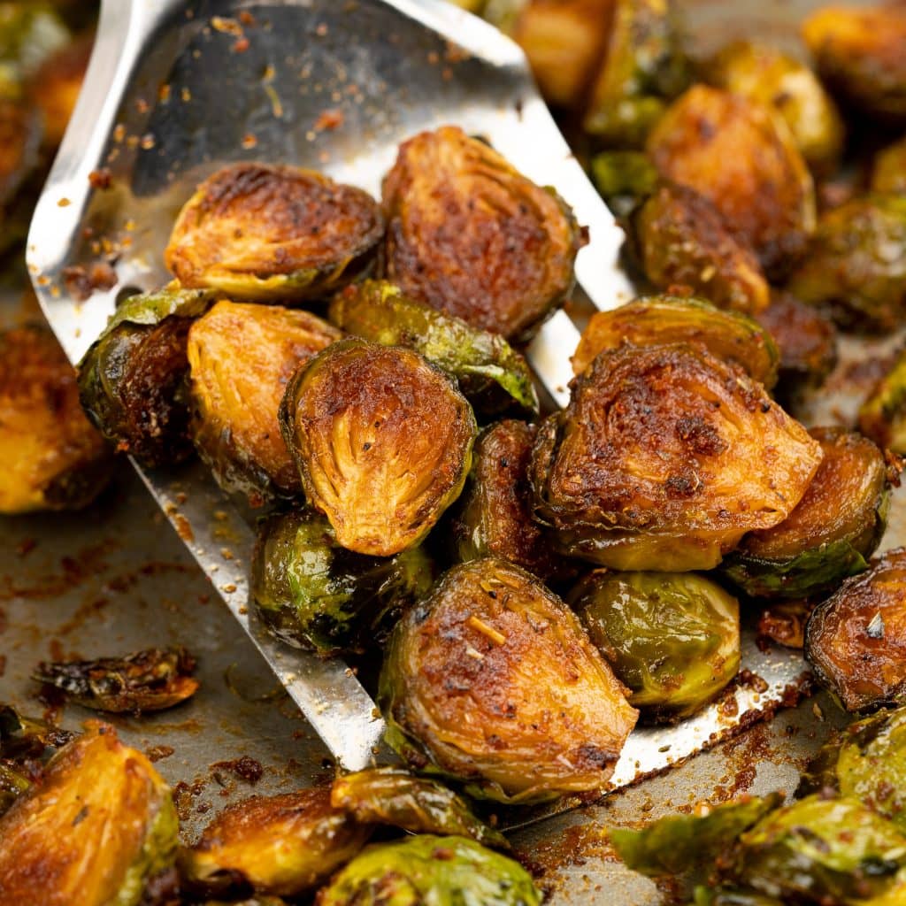
<instances>
[{"instance_id":1,"label":"small flat charred leaf scrap alone on pan, left of spatula","mask_svg":"<svg viewBox=\"0 0 906 906\"><path fill-rule=\"evenodd\" d=\"M191 698L195 659L184 648L149 648L124 658L42 661L32 679L61 689L85 708L112 713L161 711Z\"/></svg>"}]
</instances>

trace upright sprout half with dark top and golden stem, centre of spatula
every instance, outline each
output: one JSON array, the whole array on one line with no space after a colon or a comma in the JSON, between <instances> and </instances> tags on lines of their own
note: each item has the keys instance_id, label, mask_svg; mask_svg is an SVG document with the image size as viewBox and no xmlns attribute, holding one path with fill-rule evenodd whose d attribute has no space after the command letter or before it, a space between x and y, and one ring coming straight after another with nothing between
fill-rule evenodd
<instances>
[{"instance_id":1,"label":"upright sprout half with dark top and golden stem, centre of spatula","mask_svg":"<svg viewBox=\"0 0 906 906\"><path fill-rule=\"evenodd\" d=\"M454 381L418 352L336 342L295 372L280 425L305 496L340 545L391 556L459 496L477 434Z\"/></svg>"}]
</instances>

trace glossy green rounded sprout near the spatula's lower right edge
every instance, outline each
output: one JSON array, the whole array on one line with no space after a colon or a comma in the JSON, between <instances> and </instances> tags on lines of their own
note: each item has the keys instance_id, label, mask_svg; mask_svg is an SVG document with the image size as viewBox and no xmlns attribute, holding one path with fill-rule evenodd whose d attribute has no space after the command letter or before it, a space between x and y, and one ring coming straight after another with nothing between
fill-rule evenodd
<instances>
[{"instance_id":1,"label":"glossy green rounded sprout near the spatula's lower right edge","mask_svg":"<svg viewBox=\"0 0 906 906\"><path fill-rule=\"evenodd\" d=\"M688 718L739 670L739 603L694 573L589 573L570 593L642 718Z\"/></svg>"}]
</instances>

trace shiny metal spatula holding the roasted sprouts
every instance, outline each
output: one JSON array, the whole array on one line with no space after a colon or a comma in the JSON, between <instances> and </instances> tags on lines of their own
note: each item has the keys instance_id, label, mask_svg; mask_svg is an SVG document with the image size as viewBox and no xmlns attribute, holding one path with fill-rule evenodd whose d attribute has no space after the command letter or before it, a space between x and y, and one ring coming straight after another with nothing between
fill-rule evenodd
<instances>
[{"instance_id":1,"label":"shiny metal spatula holding the roasted sprouts","mask_svg":"<svg viewBox=\"0 0 906 906\"><path fill-rule=\"evenodd\" d=\"M590 230L576 265L584 292L600 308L626 301L620 229L522 53L474 16L441 0L105 0L84 90L28 239L44 313L78 361L118 294L169 279L162 250L178 208L227 161L322 169L377 195L399 142L444 123L487 138L527 176L553 185ZM117 286L73 300L66 268L90 269L111 254ZM560 404L577 339L560 313L529 351ZM383 721L352 670L287 648L255 622L246 581L253 533L205 469L141 475L333 756L349 769L390 757ZM743 657L755 679L737 687L735 703L677 728L634 732L612 787L776 707L804 672L798 654L758 651L751 633Z\"/></svg>"}]
</instances>

